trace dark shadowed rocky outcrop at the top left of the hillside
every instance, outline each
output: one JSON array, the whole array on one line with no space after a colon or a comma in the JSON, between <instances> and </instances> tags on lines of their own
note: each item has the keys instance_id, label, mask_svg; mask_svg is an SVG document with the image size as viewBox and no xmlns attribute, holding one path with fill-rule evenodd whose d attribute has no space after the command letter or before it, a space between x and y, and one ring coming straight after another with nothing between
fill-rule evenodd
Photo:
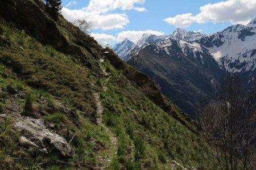
<instances>
[{"instance_id":1,"label":"dark shadowed rocky outcrop at the top left of the hillside","mask_svg":"<svg viewBox=\"0 0 256 170\"><path fill-rule=\"evenodd\" d=\"M20 29L24 29L43 44L51 44L57 49L68 44L57 24L32 1L1 1L0 15L14 22Z\"/></svg>"}]
</instances>

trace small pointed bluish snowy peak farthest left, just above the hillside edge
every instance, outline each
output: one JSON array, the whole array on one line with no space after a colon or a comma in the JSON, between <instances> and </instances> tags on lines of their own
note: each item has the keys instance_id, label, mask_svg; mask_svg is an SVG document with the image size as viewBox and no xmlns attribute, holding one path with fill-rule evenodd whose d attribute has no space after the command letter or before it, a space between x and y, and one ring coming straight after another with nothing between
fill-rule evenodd
<instances>
[{"instance_id":1,"label":"small pointed bluish snowy peak farthest left, just above the hillside edge","mask_svg":"<svg viewBox=\"0 0 256 170\"><path fill-rule=\"evenodd\" d=\"M116 44L113 50L118 56L125 56L127 53L130 52L134 45L135 44L133 41L125 39L121 43Z\"/></svg>"}]
</instances>

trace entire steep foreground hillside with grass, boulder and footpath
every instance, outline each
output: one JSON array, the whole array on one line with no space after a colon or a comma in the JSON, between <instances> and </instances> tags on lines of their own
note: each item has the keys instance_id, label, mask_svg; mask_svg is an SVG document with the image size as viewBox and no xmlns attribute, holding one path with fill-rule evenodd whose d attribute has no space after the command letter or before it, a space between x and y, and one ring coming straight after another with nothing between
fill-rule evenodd
<instances>
[{"instance_id":1,"label":"entire steep foreground hillside with grass, boulder and footpath","mask_svg":"<svg viewBox=\"0 0 256 170\"><path fill-rule=\"evenodd\" d=\"M214 169L200 127L39 0L0 1L0 169Z\"/></svg>"}]
</instances>

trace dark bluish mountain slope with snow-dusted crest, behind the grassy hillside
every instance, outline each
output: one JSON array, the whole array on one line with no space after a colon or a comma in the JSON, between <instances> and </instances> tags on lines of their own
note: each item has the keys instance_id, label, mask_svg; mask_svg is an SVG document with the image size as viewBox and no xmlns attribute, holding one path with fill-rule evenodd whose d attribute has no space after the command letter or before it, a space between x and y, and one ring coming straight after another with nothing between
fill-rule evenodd
<instances>
[{"instance_id":1,"label":"dark bluish mountain slope with snow-dusted crest, behind the grassy hillside","mask_svg":"<svg viewBox=\"0 0 256 170\"><path fill-rule=\"evenodd\" d=\"M168 39L146 45L139 56L143 65L139 70L154 79L163 94L192 118L214 99L223 73L199 44Z\"/></svg>"}]
</instances>

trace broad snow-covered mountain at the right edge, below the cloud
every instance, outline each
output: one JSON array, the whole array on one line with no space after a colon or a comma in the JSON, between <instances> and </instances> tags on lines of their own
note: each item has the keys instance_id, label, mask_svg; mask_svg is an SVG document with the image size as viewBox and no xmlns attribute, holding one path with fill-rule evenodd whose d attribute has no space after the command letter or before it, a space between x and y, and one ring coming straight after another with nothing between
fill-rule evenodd
<instances>
[{"instance_id":1,"label":"broad snow-covered mountain at the right edge, below the cloud","mask_svg":"<svg viewBox=\"0 0 256 170\"><path fill-rule=\"evenodd\" d=\"M196 40L213 55L220 67L230 73L256 69L256 19L247 25L233 25Z\"/></svg>"}]
</instances>

